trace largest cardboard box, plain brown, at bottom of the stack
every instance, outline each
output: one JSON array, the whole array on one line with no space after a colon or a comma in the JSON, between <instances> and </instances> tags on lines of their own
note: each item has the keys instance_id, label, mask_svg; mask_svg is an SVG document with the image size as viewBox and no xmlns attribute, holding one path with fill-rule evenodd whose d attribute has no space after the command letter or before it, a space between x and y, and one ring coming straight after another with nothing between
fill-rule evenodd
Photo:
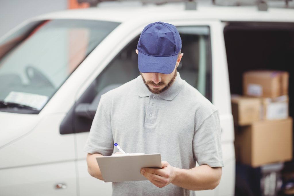
<instances>
[{"instance_id":1,"label":"largest cardboard box, plain brown, at bottom of the stack","mask_svg":"<svg viewBox=\"0 0 294 196\"><path fill-rule=\"evenodd\" d=\"M236 157L252 167L292 160L292 124L292 118L288 118L262 120L239 127L235 135Z\"/></svg>"}]
</instances>

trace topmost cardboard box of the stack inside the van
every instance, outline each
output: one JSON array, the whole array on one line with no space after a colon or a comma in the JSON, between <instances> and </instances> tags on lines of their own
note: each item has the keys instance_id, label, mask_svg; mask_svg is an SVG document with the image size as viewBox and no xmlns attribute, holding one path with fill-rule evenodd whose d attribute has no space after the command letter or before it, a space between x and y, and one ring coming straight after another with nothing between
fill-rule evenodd
<instances>
[{"instance_id":1,"label":"topmost cardboard box of the stack inside the van","mask_svg":"<svg viewBox=\"0 0 294 196\"><path fill-rule=\"evenodd\" d=\"M276 98L288 94L286 71L248 71L243 73L243 94Z\"/></svg>"}]
</instances>

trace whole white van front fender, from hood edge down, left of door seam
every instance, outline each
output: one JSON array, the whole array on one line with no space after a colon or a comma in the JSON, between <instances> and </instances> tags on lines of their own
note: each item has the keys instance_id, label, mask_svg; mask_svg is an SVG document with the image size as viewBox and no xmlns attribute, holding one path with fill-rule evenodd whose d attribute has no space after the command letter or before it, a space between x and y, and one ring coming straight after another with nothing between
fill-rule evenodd
<instances>
[{"instance_id":1,"label":"whole white van front fender, from hood edge down, left of door seam","mask_svg":"<svg viewBox=\"0 0 294 196\"><path fill-rule=\"evenodd\" d=\"M31 121L28 116L37 117L12 113L10 119L17 116L26 116L26 122L16 123L20 129ZM0 195L77 194L74 134L59 134L64 116L39 116L39 122L33 121L36 125L27 129L25 135L1 148ZM59 183L65 184L66 189L55 189Z\"/></svg>"}]
</instances>

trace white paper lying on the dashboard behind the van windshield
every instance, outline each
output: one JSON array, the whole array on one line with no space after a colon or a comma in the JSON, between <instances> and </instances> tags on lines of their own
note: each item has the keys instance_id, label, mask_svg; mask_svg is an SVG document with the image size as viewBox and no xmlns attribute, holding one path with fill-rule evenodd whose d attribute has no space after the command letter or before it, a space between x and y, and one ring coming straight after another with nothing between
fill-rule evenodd
<instances>
[{"instance_id":1,"label":"white paper lying on the dashboard behind the van windshield","mask_svg":"<svg viewBox=\"0 0 294 196\"><path fill-rule=\"evenodd\" d=\"M11 91L8 96L4 99L5 102L19 103L21 105L27 105L37 110L41 110L47 103L48 96L23 93Z\"/></svg>"}]
</instances>

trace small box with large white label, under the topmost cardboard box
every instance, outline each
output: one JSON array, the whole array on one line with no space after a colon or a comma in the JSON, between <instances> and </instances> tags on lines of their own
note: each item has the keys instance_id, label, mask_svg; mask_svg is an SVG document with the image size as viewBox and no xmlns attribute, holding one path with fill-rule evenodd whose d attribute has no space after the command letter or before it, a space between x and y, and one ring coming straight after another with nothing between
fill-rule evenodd
<instances>
[{"instance_id":1,"label":"small box with large white label, under the topmost cardboard box","mask_svg":"<svg viewBox=\"0 0 294 196\"><path fill-rule=\"evenodd\" d=\"M289 97L262 98L262 117L264 120L281 120L289 116Z\"/></svg>"}]
</instances>

